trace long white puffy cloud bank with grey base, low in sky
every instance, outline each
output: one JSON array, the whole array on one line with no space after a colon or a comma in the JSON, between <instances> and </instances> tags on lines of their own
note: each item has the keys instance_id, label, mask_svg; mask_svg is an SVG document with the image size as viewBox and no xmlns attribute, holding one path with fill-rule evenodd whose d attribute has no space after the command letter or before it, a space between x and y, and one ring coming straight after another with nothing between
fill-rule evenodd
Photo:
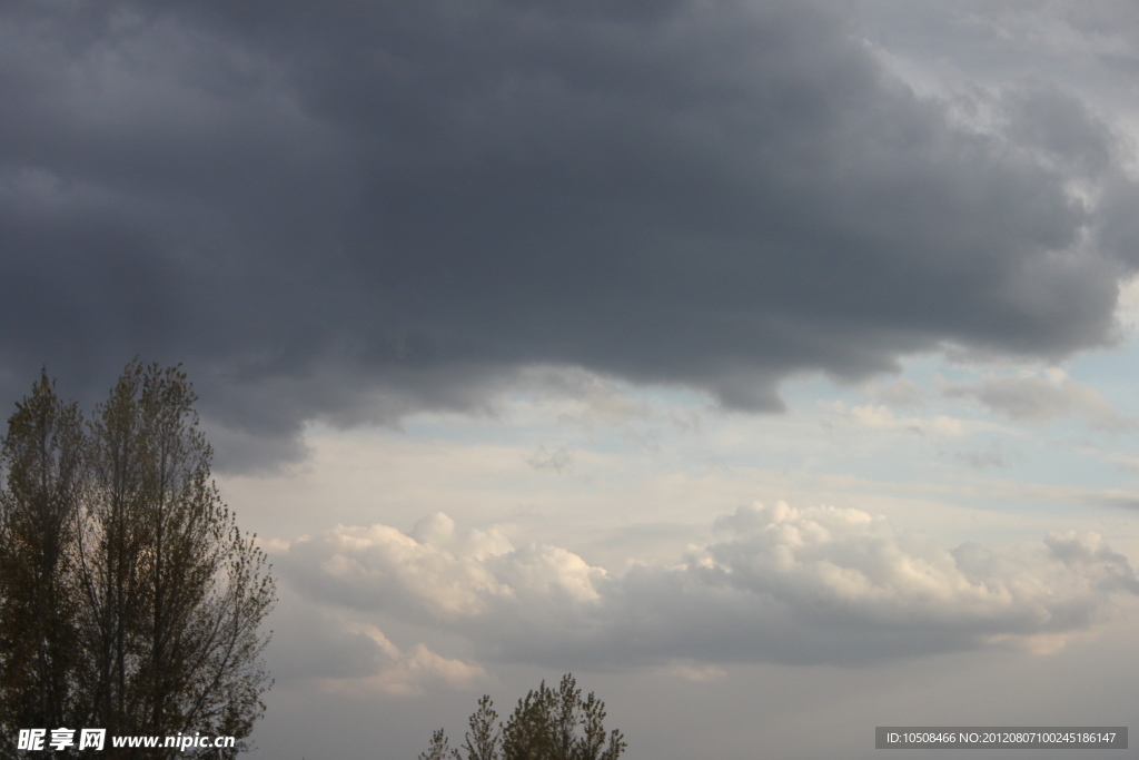
<instances>
[{"instance_id":1,"label":"long white puffy cloud bank with grey base, low in sky","mask_svg":"<svg viewBox=\"0 0 1139 760\"><path fill-rule=\"evenodd\" d=\"M671 565L624 573L515 547L445 515L338 526L281 557L319 604L457 634L482 656L599 663L858 663L995 644L1055 647L1139 593L1095 534L950 548L857 509L740 507Z\"/></svg>"}]
</instances>

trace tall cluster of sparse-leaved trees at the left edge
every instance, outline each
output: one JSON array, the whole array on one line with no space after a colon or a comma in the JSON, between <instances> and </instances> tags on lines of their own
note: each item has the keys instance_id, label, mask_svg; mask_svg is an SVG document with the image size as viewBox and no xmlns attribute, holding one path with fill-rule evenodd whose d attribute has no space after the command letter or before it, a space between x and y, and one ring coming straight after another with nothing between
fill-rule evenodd
<instances>
[{"instance_id":1,"label":"tall cluster of sparse-leaved trees at the left edge","mask_svg":"<svg viewBox=\"0 0 1139 760\"><path fill-rule=\"evenodd\" d=\"M66 726L238 738L108 758L246 749L276 594L210 477L195 400L177 367L132 362L85 425L46 375L17 403L0 447L0 743Z\"/></svg>"}]
</instances>

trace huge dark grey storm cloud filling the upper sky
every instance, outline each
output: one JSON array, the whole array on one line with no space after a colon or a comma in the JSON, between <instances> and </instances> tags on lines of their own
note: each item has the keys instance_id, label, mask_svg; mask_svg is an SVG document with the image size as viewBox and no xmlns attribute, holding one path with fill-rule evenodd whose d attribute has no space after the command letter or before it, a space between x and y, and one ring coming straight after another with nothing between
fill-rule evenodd
<instances>
[{"instance_id":1,"label":"huge dark grey storm cloud filling the upper sky","mask_svg":"<svg viewBox=\"0 0 1139 760\"><path fill-rule=\"evenodd\" d=\"M1042 87L967 130L836 13L7 3L5 390L183 361L253 464L526 365L770 409L793 373L1112 340L1107 126Z\"/></svg>"}]
</instances>

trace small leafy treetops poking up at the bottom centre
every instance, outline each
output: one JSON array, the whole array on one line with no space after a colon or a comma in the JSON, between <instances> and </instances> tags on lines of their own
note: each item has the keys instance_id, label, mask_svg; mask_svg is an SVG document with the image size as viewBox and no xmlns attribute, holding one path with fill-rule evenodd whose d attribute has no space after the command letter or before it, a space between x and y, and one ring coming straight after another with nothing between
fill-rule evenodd
<instances>
[{"instance_id":1,"label":"small leafy treetops poking up at the bottom centre","mask_svg":"<svg viewBox=\"0 0 1139 760\"><path fill-rule=\"evenodd\" d=\"M582 698L567 673L556 690L542 681L518 700L505 726L484 695L470 716L466 757L449 747L441 728L419 760L617 760L626 747L624 736L616 729L606 734L605 717L605 703L592 692Z\"/></svg>"}]
</instances>

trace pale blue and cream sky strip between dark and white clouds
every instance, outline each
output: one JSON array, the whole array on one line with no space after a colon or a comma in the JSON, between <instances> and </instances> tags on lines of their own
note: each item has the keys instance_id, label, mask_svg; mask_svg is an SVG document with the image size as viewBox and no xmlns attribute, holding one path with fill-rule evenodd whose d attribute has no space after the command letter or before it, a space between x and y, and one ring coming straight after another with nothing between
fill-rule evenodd
<instances>
[{"instance_id":1,"label":"pale blue and cream sky strip between dark and white clouds","mask_svg":"<svg viewBox=\"0 0 1139 760\"><path fill-rule=\"evenodd\" d=\"M1087 354L1066 371L1109 397L1100 378L1117 371L1116 361L1133 361L1129 351L1130 343ZM613 545L607 561L618 557L618 545L653 551L648 545L659 540L630 539L641 526L669 536L681 524L706 530L743 504L780 499L886 514L900 529L950 544L1039 540L1108 524L1130 534L1120 525L1134 525L1128 505L1137 473L1126 469L1139 465L1139 457L1126 459L1133 432L1096 430L1077 416L1010 420L974 398L943 393L947 384L1043 377L1043 369L924 354L863 383L789 379L781 414L721 409L680 387L577 376L558 392L507 391L484 414L418 412L400 430L313 426L309 434L379 442L377 456L420 447L416 461L446 481L437 482L439 508L480 524L509 518L591 556ZM482 472L476 461L492 466ZM456 466L467 474L445 474ZM457 492L484 506L456 504ZM571 530L582 510L589 530Z\"/></svg>"}]
</instances>

